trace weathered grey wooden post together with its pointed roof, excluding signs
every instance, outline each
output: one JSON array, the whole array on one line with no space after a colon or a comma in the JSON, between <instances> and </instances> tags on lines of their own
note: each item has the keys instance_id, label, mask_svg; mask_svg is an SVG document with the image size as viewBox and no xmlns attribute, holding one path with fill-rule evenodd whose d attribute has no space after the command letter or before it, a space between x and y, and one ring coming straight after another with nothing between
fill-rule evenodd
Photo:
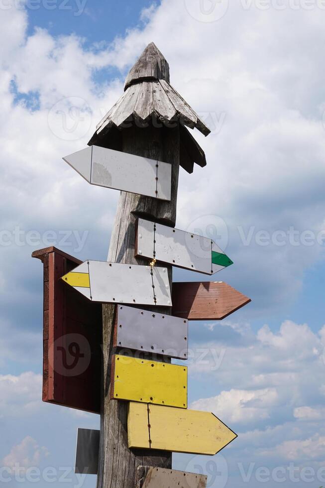
<instances>
[{"instance_id":1,"label":"weathered grey wooden post together with its pointed roof, excluding signs","mask_svg":"<svg viewBox=\"0 0 325 488\"><path fill-rule=\"evenodd\" d=\"M179 166L193 171L194 162L205 165L204 152L184 124L210 131L169 85L169 65L151 43L130 70L125 94L99 124L89 144L119 149L172 165L170 202L121 192L112 228L108 261L147 264L134 257L136 217L174 227ZM120 132L116 130L119 127ZM168 266L172 286L172 266ZM158 311L158 308L151 308ZM166 309L164 311L166 312ZM171 313L171 308L169 314ZM127 402L109 399L114 305L103 305L104 391L98 488L133 488L138 466L172 467L166 451L130 450L127 441Z\"/></svg>"}]
</instances>

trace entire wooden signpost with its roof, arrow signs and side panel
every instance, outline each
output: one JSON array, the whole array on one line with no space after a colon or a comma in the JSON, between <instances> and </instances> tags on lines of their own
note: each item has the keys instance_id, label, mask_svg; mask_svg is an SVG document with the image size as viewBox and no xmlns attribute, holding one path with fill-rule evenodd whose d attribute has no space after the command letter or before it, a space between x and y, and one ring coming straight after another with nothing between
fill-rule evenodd
<instances>
[{"instance_id":1,"label":"entire wooden signpost with its roof, arrow signs and side panel","mask_svg":"<svg viewBox=\"0 0 325 488\"><path fill-rule=\"evenodd\" d=\"M187 409L187 368L171 364L172 357L188 358L187 320L219 320L250 299L222 282L172 283L173 265L213 274L232 261L213 241L175 229L179 167L191 173L195 162L206 164L185 125L210 130L169 81L167 61L149 44L90 147L64 158L91 184L122 190L108 261L65 255L46 280L46 259L60 251L33 253L42 255L50 302L44 300L44 384L55 395L45 401L101 413L98 488L186 487L171 469L171 452L213 455L236 437L212 413ZM102 321L93 307L102 307ZM65 337L71 327L78 340ZM60 363L58 351L72 357L69 380L57 374L62 364L71 366L67 357ZM99 380L101 395L91 384ZM98 434L91 434L91 461L87 436L78 436L76 469L95 473ZM199 475L183 477L205 487Z\"/></svg>"}]
</instances>

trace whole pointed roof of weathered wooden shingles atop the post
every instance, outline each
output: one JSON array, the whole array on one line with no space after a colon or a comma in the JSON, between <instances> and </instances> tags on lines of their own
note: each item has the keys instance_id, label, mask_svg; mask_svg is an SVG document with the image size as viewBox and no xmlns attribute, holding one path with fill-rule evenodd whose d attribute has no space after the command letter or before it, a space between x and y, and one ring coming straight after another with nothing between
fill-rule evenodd
<instances>
[{"instance_id":1,"label":"whole pointed roof of weathered wooden shingles atop the post","mask_svg":"<svg viewBox=\"0 0 325 488\"><path fill-rule=\"evenodd\" d=\"M186 171L192 173L194 163L205 166L204 151L185 125L196 127L204 135L208 135L210 129L169 81L169 65L157 46L150 42L130 69L123 95L97 125L88 144L121 150L120 133L129 126L128 122L132 119L147 122L155 117L166 124L180 123L180 164Z\"/></svg>"}]
</instances>

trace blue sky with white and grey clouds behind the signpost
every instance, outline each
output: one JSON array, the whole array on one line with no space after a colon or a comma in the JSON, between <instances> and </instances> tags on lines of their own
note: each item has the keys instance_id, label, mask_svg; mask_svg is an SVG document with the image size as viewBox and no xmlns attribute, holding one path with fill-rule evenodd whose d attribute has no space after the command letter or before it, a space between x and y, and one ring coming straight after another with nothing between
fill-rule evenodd
<instances>
[{"instance_id":1,"label":"blue sky with white and grey clouds behind the signpost","mask_svg":"<svg viewBox=\"0 0 325 488\"><path fill-rule=\"evenodd\" d=\"M234 262L216 279L252 299L189 327L189 406L238 438L173 467L209 488L325 485L324 18L323 0L0 0L1 483L96 486L73 466L77 428L99 417L41 401L31 253L106 259L118 192L62 157L86 146L154 41L212 130L193 131L207 166L181 171L177 227L215 239Z\"/></svg>"}]
</instances>

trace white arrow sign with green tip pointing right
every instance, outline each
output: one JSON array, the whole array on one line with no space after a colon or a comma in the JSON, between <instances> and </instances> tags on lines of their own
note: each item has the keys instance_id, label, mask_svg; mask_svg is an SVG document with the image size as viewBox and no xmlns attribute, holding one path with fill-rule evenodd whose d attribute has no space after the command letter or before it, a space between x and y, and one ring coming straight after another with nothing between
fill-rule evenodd
<instances>
[{"instance_id":1,"label":"white arrow sign with green tip pointing right","mask_svg":"<svg viewBox=\"0 0 325 488\"><path fill-rule=\"evenodd\" d=\"M135 255L205 274L232 264L211 239L144 219L138 219Z\"/></svg>"}]
</instances>

